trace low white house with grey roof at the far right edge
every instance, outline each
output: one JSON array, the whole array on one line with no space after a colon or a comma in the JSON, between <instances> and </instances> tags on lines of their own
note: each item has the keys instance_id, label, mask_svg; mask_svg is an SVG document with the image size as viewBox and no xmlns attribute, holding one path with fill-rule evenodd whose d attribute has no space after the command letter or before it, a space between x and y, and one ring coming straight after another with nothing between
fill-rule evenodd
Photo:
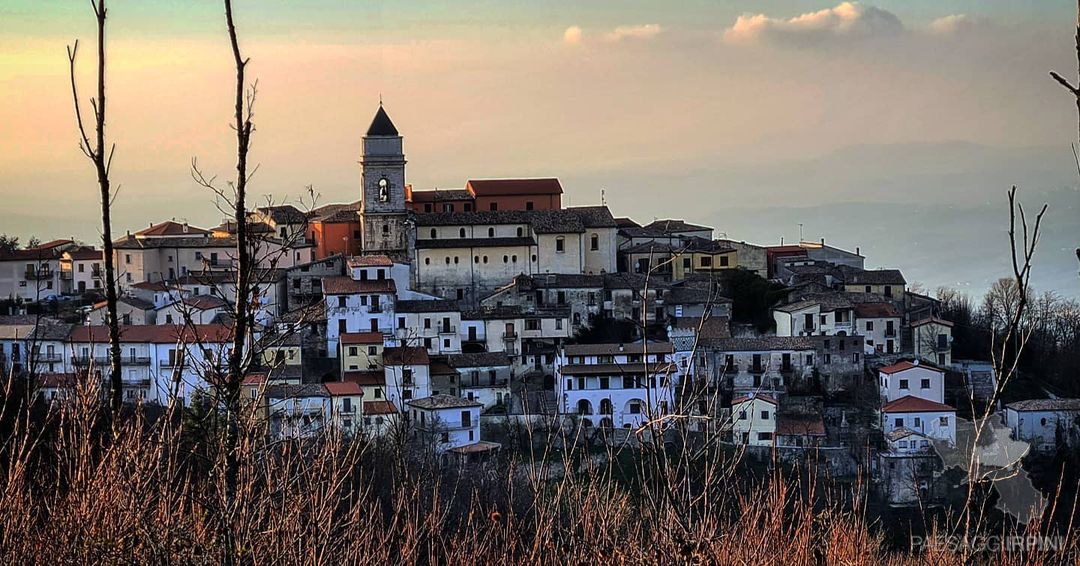
<instances>
[{"instance_id":1,"label":"low white house with grey roof at the far right edge","mask_svg":"<svg viewBox=\"0 0 1080 566\"><path fill-rule=\"evenodd\" d=\"M1005 405L1005 426L1013 439L1036 450L1053 450L1058 442L1076 446L1080 437L1080 399L1029 399Z\"/></svg>"}]
</instances>

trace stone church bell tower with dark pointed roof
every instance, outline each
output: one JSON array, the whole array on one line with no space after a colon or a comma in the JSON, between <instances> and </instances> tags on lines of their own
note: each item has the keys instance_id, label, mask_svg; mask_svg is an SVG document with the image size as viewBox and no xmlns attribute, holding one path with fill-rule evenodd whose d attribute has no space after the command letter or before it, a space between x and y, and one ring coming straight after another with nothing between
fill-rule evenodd
<instances>
[{"instance_id":1,"label":"stone church bell tower with dark pointed roof","mask_svg":"<svg viewBox=\"0 0 1080 566\"><path fill-rule=\"evenodd\" d=\"M405 153L402 136L381 102L364 135L360 177L363 187L360 214L364 253L384 254L394 261L408 261Z\"/></svg>"}]
</instances>

